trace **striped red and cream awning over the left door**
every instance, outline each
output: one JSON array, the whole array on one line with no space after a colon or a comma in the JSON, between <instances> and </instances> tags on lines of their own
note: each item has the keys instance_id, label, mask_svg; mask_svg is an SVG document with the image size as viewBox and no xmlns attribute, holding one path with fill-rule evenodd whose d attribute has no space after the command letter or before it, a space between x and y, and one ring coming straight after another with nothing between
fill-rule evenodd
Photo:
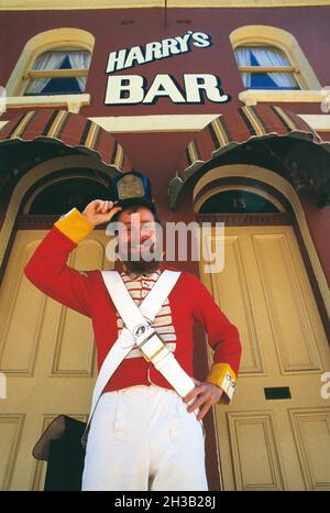
<instances>
[{"instance_id":1,"label":"striped red and cream awning over the left door","mask_svg":"<svg viewBox=\"0 0 330 513\"><path fill-rule=\"evenodd\" d=\"M99 124L66 110L41 109L10 120L0 130L0 148L12 141L53 140L100 161L119 172L132 170L122 146Z\"/></svg>"}]
</instances>

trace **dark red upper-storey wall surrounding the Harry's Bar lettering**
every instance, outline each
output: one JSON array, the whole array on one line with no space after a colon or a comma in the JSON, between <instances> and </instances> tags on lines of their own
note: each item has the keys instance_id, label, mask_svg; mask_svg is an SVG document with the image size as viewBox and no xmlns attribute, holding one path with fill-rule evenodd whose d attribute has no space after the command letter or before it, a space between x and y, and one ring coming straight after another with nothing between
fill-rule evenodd
<instances>
[{"instance_id":1,"label":"dark red upper-storey wall surrounding the Harry's Bar lettering","mask_svg":"<svg viewBox=\"0 0 330 513\"><path fill-rule=\"evenodd\" d=\"M189 23L182 23L188 20ZM324 56L330 53L330 7L277 8L277 9L169 9L167 26L164 26L164 10L95 10L95 11L28 11L1 12L0 85L4 86L25 45L42 31L55 28L78 28L96 37L92 62L86 91L92 102L81 113L90 116L136 116L155 113L224 112L239 106L238 94L243 90L234 54L229 40L237 28L250 24L268 24L290 32L298 41L307 59L322 86L330 85L330 68ZM133 23L128 23L133 21ZM183 73L210 73L220 76L226 94L232 96L229 103L173 105L161 98L154 106L110 107L103 105L106 91L106 66L109 52L141 45L166 37L183 35L188 30L211 35L212 46L191 47L190 53L172 56L158 62L118 72L140 74L148 84L157 73L173 74L182 84ZM301 106L287 105L301 113ZM304 113L320 113L318 105L305 105ZM8 118L14 116L11 110Z\"/></svg>"}]
</instances>

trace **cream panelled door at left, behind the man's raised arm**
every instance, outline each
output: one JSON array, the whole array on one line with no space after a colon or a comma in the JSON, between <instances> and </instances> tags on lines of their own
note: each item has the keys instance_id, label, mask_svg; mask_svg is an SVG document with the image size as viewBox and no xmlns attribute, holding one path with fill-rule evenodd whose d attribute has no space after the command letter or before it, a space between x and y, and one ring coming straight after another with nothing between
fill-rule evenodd
<instances>
[{"instance_id":1,"label":"cream panelled door at left, behind the man's raised arm","mask_svg":"<svg viewBox=\"0 0 330 513\"><path fill-rule=\"evenodd\" d=\"M47 230L18 231L0 288L0 489L42 490L45 463L32 448L58 414L86 419L96 379L94 331L88 317L41 293L23 273ZM111 269L109 237L94 230L70 254L79 270Z\"/></svg>"}]
</instances>

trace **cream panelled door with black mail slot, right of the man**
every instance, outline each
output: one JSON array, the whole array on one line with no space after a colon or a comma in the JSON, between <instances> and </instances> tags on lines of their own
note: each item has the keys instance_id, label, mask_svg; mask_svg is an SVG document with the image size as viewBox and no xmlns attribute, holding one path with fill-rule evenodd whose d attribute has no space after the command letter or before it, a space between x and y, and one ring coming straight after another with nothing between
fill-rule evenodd
<instances>
[{"instance_id":1,"label":"cream panelled door with black mail slot, right of the man","mask_svg":"<svg viewBox=\"0 0 330 513\"><path fill-rule=\"evenodd\" d=\"M200 266L243 345L233 403L215 408L223 488L328 490L330 407L320 378L329 346L294 230L228 227L224 238L222 272ZM284 386L289 399L266 399L264 389Z\"/></svg>"}]
</instances>

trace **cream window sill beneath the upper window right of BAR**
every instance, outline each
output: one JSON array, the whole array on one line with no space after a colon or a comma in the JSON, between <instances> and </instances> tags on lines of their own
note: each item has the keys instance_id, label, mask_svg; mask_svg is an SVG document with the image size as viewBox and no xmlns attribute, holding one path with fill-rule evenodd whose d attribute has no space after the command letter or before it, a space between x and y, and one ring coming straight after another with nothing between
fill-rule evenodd
<instances>
[{"instance_id":1,"label":"cream window sill beneath the upper window right of BAR","mask_svg":"<svg viewBox=\"0 0 330 513\"><path fill-rule=\"evenodd\" d=\"M287 103L322 103L324 109L330 107L330 89L318 90L267 90L249 89L239 94L239 99L251 107L263 101L287 102ZM327 110L328 112L328 110Z\"/></svg>"}]
</instances>

